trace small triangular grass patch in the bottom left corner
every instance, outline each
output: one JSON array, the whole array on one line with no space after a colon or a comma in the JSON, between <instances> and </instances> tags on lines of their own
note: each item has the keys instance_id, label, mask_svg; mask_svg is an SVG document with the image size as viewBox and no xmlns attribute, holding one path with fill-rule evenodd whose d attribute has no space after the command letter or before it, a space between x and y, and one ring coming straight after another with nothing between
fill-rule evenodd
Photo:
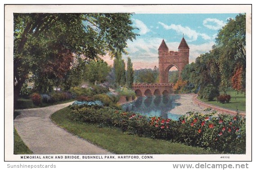
<instances>
[{"instance_id":1,"label":"small triangular grass patch in the bottom left corner","mask_svg":"<svg viewBox=\"0 0 256 170\"><path fill-rule=\"evenodd\" d=\"M13 154L19 155L19 154L32 154L31 150L27 147L26 144L24 144L23 140L18 135L16 129L13 131L14 135L14 146L13 146Z\"/></svg>"}]
</instances>

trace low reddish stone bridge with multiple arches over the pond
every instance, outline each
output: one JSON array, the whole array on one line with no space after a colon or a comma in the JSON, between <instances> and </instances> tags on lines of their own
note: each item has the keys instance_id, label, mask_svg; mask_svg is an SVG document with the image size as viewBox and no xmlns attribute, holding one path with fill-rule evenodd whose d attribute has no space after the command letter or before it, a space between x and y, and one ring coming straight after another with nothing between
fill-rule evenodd
<instances>
[{"instance_id":1,"label":"low reddish stone bridge with multiple arches over the pond","mask_svg":"<svg viewBox=\"0 0 256 170\"><path fill-rule=\"evenodd\" d=\"M166 96L172 92L171 83L135 83L132 89L136 96Z\"/></svg>"}]
</instances>

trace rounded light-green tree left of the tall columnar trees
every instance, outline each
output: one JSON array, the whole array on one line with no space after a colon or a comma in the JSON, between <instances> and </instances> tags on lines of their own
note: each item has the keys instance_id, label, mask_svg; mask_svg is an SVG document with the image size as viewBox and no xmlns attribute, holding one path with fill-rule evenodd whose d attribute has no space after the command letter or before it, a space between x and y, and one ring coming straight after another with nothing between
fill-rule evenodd
<instances>
[{"instance_id":1,"label":"rounded light-green tree left of the tall columnar trees","mask_svg":"<svg viewBox=\"0 0 256 170\"><path fill-rule=\"evenodd\" d=\"M85 79L90 83L103 83L110 72L110 66L102 59L91 60L85 70Z\"/></svg>"}]
</instances>

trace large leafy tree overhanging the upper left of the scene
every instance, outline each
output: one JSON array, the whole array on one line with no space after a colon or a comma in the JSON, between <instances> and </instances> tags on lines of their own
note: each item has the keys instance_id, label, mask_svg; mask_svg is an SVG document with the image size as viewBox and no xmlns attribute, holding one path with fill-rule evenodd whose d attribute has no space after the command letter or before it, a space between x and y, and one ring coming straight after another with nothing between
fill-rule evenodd
<instances>
[{"instance_id":1,"label":"large leafy tree overhanging the upper left of the scene","mask_svg":"<svg viewBox=\"0 0 256 170\"><path fill-rule=\"evenodd\" d=\"M95 58L107 52L125 52L126 41L137 35L133 33L130 15L14 13L14 99L17 100L28 75L34 74L38 79L36 70L44 68L58 53L69 51Z\"/></svg>"}]
</instances>

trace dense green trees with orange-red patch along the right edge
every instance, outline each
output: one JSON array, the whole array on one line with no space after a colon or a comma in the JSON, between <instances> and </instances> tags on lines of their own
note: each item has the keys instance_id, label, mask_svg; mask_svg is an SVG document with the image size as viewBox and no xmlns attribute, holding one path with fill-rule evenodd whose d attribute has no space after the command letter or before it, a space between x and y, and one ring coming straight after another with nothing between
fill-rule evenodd
<instances>
[{"instance_id":1,"label":"dense green trees with orange-red patch along the right edge","mask_svg":"<svg viewBox=\"0 0 256 170\"><path fill-rule=\"evenodd\" d=\"M194 63L186 65L183 87L198 92L200 98L213 100L219 91L227 88L245 92L246 23L245 14L239 14L219 31L210 52L200 55Z\"/></svg>"}]
</instances>

